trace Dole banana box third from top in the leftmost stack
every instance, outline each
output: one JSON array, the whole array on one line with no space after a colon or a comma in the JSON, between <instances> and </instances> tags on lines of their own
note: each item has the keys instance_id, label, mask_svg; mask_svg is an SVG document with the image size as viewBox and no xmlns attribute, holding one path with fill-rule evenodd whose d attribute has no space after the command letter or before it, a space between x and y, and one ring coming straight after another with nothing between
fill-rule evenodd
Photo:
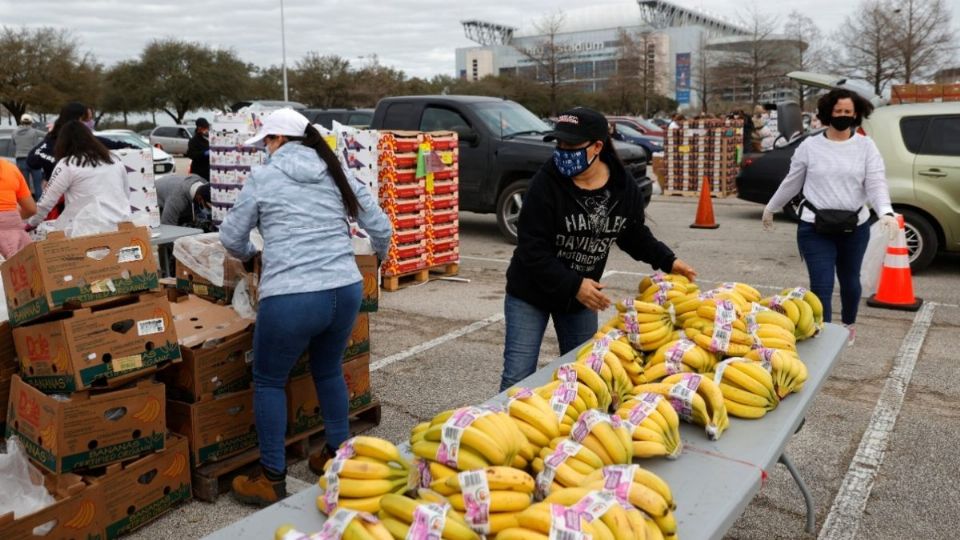
<instances>
[{"instance_id":1,"label":"Dole banana box third from top in the leftmost stack","mask_svg":"<svg viewBox=\"0 0 960 540\"><path fill-rule=\"evenodd\" d=\"M163 449L165 399L153 381L63 398L14 376L7 436L19 436L30 458L53 473L101 467Z\"/></svg>"}]
</instances>

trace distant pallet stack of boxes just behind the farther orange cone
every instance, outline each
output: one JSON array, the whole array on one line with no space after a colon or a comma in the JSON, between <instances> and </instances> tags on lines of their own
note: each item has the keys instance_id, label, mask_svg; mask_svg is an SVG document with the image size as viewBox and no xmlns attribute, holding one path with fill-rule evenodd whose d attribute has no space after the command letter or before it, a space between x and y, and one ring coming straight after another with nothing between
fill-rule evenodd
<instances>
[{"instance_id":1,"label":"distant pallet stack of boxes just behind the farther orange cone","mask_svg":"<svg viewBox=\"0 0 960 540\"><path fill-rule=\"evenodd\" d=\"M706 182L713 197L735 195L742 157L742 120L685 121L667 130L664 194L696 197Z\"/></svg>"}]
</instances>

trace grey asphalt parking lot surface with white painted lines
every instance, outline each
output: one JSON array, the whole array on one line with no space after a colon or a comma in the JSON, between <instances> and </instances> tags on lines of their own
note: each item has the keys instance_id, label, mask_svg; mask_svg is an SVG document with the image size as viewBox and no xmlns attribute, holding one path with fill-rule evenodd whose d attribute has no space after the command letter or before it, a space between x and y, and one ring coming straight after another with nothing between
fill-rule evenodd
<instances>
[{"instance_id":1,"label":"grey asphalt parking lot surface with white painted lines","mask_svg":"<svg viewBox=\"0 0 960 540\"><path fill-rule=\"evenodd\" d=\"M763 232L759 205L724 200L715 204L720 228L694 230L688 225L695 210L695 199L656 197L648 215L655 235L697 269L703 288L744 281L772 294L806 285L793 224L778 221ZM497 392L511 252L493 216L463 213L458 279L381 293L371 317L371 379L383 419L372 435L400 442L415 423ZM615 251L607 271L611 294L624 296L650 268ZM856 344L788 446L813 491L818 529L829 516L832 532L849 533L832 538L953 538L949 531L960 529L960 259L941 257L915 276L914 288L928 305L919 313L862 307ZM548 330L541 361L557 354ZM727 537L810 538L803 499L786 469L767 472ZM867 492L857 489L864 475L874 480ZM290 476L291 491L316 480L303 463ZM251 512L229 496L192 502L131 538L199 538Z\"/></svg>"}]
</instances>

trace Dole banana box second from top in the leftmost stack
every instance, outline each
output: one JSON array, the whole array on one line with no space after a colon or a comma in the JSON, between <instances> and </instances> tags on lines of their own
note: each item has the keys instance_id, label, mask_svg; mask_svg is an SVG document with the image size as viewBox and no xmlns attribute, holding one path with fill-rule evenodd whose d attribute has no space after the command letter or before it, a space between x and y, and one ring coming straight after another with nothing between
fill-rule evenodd
<instances>
[{"instance_id":1,"label":"Dole banana box second from top in the leftmost stack","mask_svg":"<svg viewBox=\"0 0 960 540\"><path fill-rule=\"evenodd\" d=\"M65 311L13 330L23 378L44 392L117 386L180 361L162 294Z\"/></svg>"}]
</instances>

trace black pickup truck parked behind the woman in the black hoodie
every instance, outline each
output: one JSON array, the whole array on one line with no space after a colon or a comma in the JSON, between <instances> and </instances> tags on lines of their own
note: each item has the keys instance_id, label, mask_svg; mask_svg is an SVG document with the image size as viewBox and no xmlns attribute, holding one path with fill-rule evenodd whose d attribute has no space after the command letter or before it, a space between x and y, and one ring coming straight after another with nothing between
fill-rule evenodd
<instances>
[{"instance_id":1,"label":"black pickup truck parked behind the woman in the black hoodie","mask_svg":"<svg viewBox=\"0 0 960 540\"><path fill-rule=\"evenodd\" d=\"M522 105L483 96L403 96L380 100L371 129L455 131L460 137L460 209L497 214L500 231L517 241L517 219L533 175L553 155L550 126ZM614 141L640 184L653 194L643 148Z\"/></svg>"}]
</instances>

